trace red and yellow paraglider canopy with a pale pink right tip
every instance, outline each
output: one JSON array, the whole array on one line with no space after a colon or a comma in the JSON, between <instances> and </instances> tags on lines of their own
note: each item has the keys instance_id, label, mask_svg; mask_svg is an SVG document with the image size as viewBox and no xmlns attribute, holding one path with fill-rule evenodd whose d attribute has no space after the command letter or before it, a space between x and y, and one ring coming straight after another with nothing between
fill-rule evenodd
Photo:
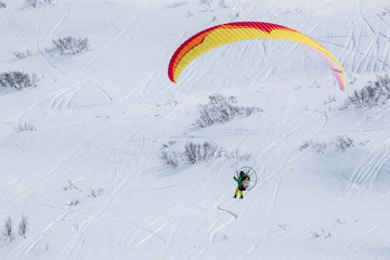
<instances>
[{"instance_id":1,"label":"red and yellow paraglider canopy with a pale pink right tip","mask_svg":"<svg viewBox=\"0 0 390 260\"><path fill-rule=\"evenodd\" d=\"M220 46L250 39L283 39L303 43L316 52L333 70L341 90L346 90L347 77L340 63L312 38L288 27L262 23L237 22L205 29L182 43L172 55L168 76L177 82L180 74L196 57Z\"/></svg>"}]
</instances>

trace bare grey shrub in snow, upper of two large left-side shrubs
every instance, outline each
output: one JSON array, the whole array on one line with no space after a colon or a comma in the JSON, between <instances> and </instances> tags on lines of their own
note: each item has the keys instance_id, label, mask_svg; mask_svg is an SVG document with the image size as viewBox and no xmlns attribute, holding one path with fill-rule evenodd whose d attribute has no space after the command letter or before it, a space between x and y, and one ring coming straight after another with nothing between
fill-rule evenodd
<instances>
[{"instance_id":1,"label":"bare grey shrub in snow, upper of two large left-side shrubs","mask_svg":"<svg viewBox=\"0 0 390 260\"><path fill-rule=\"evenodd\" d=\"M75 38L72 36L53 40L53 48L48 52L61 55L75 55L90 50L88 38Z\"/></svg>"}]
</instances>

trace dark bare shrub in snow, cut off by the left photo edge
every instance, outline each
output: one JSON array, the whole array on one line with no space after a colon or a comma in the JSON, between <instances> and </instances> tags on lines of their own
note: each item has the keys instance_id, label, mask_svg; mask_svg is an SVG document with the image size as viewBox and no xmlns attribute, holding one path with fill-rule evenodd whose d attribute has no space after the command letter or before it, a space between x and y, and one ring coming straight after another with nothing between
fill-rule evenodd
<instances>
[{"instance_id":1,"label":"dark bare shrub in snow, cut off by the left photo edge","mask_svg":"<svg viewBox=\"0 0 390 260\"><path fill-rule=\"evenodd\" d=\"M37 87L37 75L28 75L22 72L9 72L0 74L0 87L14 88L17 90Z\"/></svg>"}]
</instances>

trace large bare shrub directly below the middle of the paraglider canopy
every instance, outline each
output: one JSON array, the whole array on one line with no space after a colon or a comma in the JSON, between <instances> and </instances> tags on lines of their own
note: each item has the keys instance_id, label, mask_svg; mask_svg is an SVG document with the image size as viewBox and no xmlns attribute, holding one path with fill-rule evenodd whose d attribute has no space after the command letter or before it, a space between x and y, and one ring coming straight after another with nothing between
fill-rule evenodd
<instances>
[{"instance_id":1,"label":"large bare shrub directly below the middle of the paraglider canopy","mask_svg":"<svg viewBox=\"0 0 390 260\"><path fill-rule=\"evenodd\" d=\"M259 110L260 108L258 107L238 106L236 98L234 96L214 94L209 95L208 104L200 104L200 115L196 119L196 122L199 127L205 128L217 122L224 123L236 116L249 116Z\"/></svg>"}]
</instances>

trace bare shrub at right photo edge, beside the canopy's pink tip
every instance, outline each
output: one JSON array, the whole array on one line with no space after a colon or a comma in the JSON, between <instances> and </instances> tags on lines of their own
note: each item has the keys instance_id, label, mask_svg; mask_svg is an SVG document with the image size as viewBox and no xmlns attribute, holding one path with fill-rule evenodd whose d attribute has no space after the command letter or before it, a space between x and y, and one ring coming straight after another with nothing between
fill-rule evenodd
<instances>
[{"instance_id":1,"label":"bare shrub at right photo edge, beside the canopy's pink tip","mask_svg":"<svg viewBox=\"0 0 390 260\"><path fill-rule=\"evenodd\" d=\"M373 107L385 103L390 99L390 77L389 75L378 76L375 81L368 81L368 86L361 90L353 91L348 96L346 106L354 105L356 108Z\"/></svg>"}]
</instances>

